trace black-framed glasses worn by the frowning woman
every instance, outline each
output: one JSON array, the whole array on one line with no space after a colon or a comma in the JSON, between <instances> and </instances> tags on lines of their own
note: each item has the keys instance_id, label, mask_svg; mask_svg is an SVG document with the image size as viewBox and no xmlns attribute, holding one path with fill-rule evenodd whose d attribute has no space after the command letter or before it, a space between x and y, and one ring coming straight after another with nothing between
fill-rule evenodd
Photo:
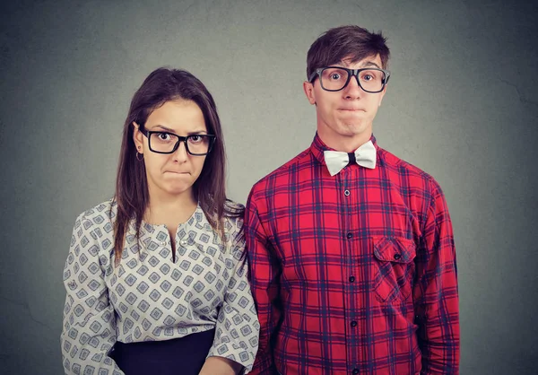
<instances>
[{"instance_id":1,"label":"black-framed glasses worn by the frowning woman","mask_svg":"<svg viewBox=\"0 0 538 375\"><path fill-rule=\"evenodd\" d=\"M181 136L146 129L141 129L140 131L148 138L148 144L150 144L150 150L153 153L175 153L178 150L179 143L183 142L187 153L195 156L204 156L211 152L217 138L215 135L206 134Z\"/></svg>"}]
</instances>

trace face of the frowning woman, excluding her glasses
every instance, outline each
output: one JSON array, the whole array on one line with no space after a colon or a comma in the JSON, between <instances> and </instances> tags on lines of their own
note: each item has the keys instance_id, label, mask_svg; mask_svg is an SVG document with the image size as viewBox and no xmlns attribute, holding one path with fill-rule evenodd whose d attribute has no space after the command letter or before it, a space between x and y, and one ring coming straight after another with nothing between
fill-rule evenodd
<instances>
[{"instance_id":1,"label":"face of the frowning woman, excluding her glasses","mask_svg":"<svg viewBox=\"0 0 538 375\"><path fill-rule=\"evenodd\" d=\"M133 123L133 126L136 151L143 154L143 161L139 162L145 164L150 199L155 195L163 197L192 195L195 180L204 168L205 156L187 153L185 143L182 141L174 153L154 153L150 150L149 138L143 135L139 125ZM180 136L207 134L204 114L192 100L165 102L160 108L153 110L143 128ZM152 135L152 148L157 148L158 141L166 141L169 138L169 135ZM190 150L193 151L193 148ZM138 157L140 158L140 155Z\"/></svg>"}]
</instances>

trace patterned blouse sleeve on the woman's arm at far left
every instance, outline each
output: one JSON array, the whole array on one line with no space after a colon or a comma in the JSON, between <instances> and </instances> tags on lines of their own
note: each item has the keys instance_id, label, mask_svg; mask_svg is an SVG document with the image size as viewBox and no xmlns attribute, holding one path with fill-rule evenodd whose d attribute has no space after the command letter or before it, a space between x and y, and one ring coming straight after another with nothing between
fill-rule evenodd
<instances>
[{"instance_id":1,"label":"patterned blouse sleeve on the woman's arm at far left","mask_svg":"<svg viewBox=\"0 0 538 375\"><path fill-rule=\"evenodd\" d=\"M123 375L108 356L116 343L116 319L100 266L98 236L83 214L74 223L64 284L60 342L65 374Z\"/></svg>"}]
</instances>

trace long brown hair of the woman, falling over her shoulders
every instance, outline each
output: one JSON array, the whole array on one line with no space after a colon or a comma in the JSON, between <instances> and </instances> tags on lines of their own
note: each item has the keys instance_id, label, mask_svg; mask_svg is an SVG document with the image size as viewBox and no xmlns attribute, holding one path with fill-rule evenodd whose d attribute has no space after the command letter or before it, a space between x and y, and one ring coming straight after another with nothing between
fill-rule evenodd
<instances>
[{"instance_id":1,"label":"long brown hair of the woman, falling over her shoulders","mask_svg":"<svg viewBox=\"0 0 538 375\"><path fill-rule=\"evenodd\" d=\"M133 122L143 127L154 109L160 108L167 101L180 99L193 100L204 114L208 134L216 135L211 153L206 156L204 168L193 185L195 199L198 200L213 230L219 231L221 236L224 234L224 216L243 214L242 209L230 205L226 198L226 155L221 120L211 93L193 74L185 70L161 67L148 75L142 86L134 93L124 124L114 196L117 202L117 216L114 222L115 265L118 265L121 259L126 231L131 220L134 220L136 238L140 240L140 226L149 204L145 165L136 160Z\"/></svg>"}]
</instances>

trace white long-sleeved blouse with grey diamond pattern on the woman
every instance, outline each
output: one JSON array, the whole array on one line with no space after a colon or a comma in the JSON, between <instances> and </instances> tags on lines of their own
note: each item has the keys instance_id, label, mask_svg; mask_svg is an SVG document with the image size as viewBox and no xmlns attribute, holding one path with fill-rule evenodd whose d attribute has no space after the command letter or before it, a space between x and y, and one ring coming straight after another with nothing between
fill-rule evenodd
<instances>
[{"instance_id":1,"label":"white long-sleeved blouse with grey diamond pattern on the woman","mask_svg":"<svg viewBox=\"0 0 538 375\"><path fill-rule=\"evenodd\" d=\"M175 262L165 225L143 222L138 242L133 221L115 267L116 212L109 200L74 223L64 270L65 373L123 374L108 356L117 341L168 340L213 328L207 356L229 358L250 371L259 323L247 282L242 219L225 218L223 242L198 205L178 226Z\"/></svg>"}]
</instances>

